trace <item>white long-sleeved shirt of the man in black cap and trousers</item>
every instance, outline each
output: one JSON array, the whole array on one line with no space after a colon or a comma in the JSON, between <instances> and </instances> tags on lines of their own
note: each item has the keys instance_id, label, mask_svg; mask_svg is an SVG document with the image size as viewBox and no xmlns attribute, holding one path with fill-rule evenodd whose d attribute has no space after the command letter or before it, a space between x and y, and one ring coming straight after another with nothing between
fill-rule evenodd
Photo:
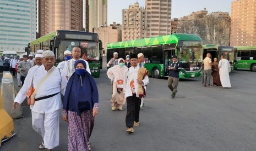
<instances>
[{"instance_id":1,"label":"white long-sleeved shirt of the man in black cap and trousers","mask_svg":"<svg viewBox=\"0 0 256 151\"><path fill-rule=\"evenodd\" d=\"M138 92L138 83L137 83L137 78L138 78L138 71L139 71L139 66L137 67L130 67L127 68L124 71L124 81L123 81L123 92L124 92L124 96L128 97L128 96L132 96L133 92L132 92L132 88L130 88L130 82L133 80L134 81L134 87L135 87L135 91L136 91L136 96L139 97L139 92ZM148 75L145 76L145 78L142 80L142 86L145 86L149 83L149 77Z\"/></svg>"}]
</instances>

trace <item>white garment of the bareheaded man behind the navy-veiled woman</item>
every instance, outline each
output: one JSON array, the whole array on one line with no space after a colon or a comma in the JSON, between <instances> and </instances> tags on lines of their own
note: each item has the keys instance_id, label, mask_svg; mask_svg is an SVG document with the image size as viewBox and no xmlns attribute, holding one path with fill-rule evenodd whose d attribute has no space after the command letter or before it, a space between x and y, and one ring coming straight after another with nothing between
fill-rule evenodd
<instances>
[{"instance_id":1,"label":"white garment of the bareheaded man behind the navy-veiled woman","mask_svg":"<svg viewBox=\"0 0 256 151\"><path fill-rule=\"evenodd\" d=\"M79 60L83 60L83 59L79 59ZM75 72L75 61L77 61L77 60L70 59L70 60L66 61L65 65L64 65L63 71L64 71L65 75L68 77L68 79ZM84 61L86 63L86 71L91 74L88 62L86 60L84 60Z\"/></svg>"}]
</instances>

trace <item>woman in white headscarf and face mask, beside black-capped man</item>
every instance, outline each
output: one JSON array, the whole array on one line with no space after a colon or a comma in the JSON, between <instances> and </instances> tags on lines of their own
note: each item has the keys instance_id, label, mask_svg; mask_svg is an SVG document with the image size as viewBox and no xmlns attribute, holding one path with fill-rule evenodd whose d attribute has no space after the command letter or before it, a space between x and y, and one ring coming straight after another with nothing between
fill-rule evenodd
<instances>
[{"instance_id":1,"label":"woman in white headscarf and face mask, beside black-capped man","mask_svg":"<svg viewBox=\"0 0 256 151\"><path fill-rule=\"evenodd\" d=\"M111 99L112 111L115 111L116 108L119 111L123 110L123 104L126 103L126 97L123 93L123 76L124 70L127 69L127 66L124 65L124 60L122 58L118 59L118 65L109 68L107 71L107 77L113 80L113 94Z\"/></svg>"}]
</instances>

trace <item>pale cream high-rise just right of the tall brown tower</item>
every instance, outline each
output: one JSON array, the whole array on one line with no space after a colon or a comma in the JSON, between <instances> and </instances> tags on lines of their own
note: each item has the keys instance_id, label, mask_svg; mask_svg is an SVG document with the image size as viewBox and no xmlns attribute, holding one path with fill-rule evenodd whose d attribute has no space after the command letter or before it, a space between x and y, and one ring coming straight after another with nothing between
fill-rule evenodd
<instances>
[{"instance_id":1,"label":"pale cream high-rise just right of the tall brown tower","mask_svg":"<svg viewBox=\"0 0 256 151\"><path fill-rule=\"evenodd\" d=\"M89 0L89 31L107 25L107 0Z\"/></svg>"}]
</instances>

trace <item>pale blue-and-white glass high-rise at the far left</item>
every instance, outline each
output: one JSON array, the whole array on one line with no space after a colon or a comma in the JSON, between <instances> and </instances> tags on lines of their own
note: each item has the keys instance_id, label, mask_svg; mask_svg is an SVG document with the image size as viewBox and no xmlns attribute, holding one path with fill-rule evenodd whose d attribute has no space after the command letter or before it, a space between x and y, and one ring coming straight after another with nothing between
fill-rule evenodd
<instances>
[{"instance_id":1,"label":"pale blue-and-white glass high-rise at the far left","mask_svg":"<svg viewBox=\"0 0 256 151\"><path fill-rule=\"evenodd\" d=\"M35 0L1 1L0 22L0 51L24 52L36 39Z\"/></svg>"}]
</instances>

